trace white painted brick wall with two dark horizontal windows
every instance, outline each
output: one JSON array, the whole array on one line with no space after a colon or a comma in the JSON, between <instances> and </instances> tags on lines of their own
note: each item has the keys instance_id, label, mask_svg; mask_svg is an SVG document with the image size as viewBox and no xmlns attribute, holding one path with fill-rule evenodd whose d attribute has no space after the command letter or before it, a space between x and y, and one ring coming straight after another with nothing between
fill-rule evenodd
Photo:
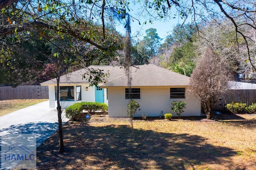
<instances>
[{"instance_id":1,"label":"white painted brick wall with two dark horizontal windows","mask_svg":"<svg viewBox=\"0 0 256 170\"><path fill-rule=\"evenodd\" d=\"M139 88L139 87L134 87ZM170 107L173 99L170 99L170 87L140 87L140 99L136 100L140 104L135 117L141 117L146 113L148 117L160 116L172 113L177 116ZM176 101L185 101L186 108L182 116L200 116L201 104L195 97L188 95L186 99L175 99ZM125 99L125 87L109 87L108 88L108 114L110 117L128 117L127 105L129 100Z\"/></svg>"}]
</instances>

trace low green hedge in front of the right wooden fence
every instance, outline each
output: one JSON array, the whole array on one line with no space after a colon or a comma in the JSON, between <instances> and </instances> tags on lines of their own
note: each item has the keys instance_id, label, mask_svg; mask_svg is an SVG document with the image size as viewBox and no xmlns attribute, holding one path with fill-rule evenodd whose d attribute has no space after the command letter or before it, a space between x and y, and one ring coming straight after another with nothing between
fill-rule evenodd
<instances>
[{"instance_id":1,"label":"low green hedge in front of the right wooden fence","mask_svg":"<svg viewBox=\"0 0 256 170\"><path fill-rule=\"evenodd\" d=\"M234 114L256 113L256 104L247 106L246 103L229 103L226 109Z\"/></svg>"}]
</instances>

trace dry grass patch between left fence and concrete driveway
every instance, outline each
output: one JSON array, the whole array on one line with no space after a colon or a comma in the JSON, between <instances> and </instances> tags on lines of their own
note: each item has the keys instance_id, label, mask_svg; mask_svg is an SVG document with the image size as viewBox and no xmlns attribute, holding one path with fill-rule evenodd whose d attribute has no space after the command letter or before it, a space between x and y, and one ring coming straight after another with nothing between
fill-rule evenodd
<instances>
[{"instance_id":1,"label":"dry grass patch between left fence and concrete driveway","mask_svg":"<svg viewBox=\"0 0 256 170\"><path fill-rule=\"evenodd\" d=\"M17 111L19 109L35 105L48 99L14 99L0 100L0 116Z\"/></svg>"}]
</instances>

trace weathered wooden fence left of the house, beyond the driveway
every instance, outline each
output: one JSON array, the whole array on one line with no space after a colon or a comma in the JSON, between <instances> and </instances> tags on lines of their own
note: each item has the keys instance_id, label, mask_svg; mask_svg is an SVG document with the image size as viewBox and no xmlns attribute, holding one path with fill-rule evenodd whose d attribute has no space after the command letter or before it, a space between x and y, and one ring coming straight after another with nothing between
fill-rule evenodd
<instances>
[{"instance_id":1,"label":"weathered wooden fence left of the house, beyond the driveway","mask_svg":"<svg viewBox=\"0 0 256 170\"><path fill-rule=\"evenodd\" d=\"M0 100L10 99L48 99L48 86L25 85L0 87Z\"/></svg>"}]
</instances>

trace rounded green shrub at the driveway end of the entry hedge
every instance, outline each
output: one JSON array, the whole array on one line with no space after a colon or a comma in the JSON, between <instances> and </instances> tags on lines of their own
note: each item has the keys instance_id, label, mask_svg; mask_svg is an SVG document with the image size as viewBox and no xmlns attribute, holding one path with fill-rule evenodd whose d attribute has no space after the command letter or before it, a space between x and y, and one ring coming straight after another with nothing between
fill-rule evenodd
<instances>
[{"instance_id":1,"label":"rounded green shrub at the driveway end of the entry hedge","mask_svg":"<svg viewBox=\"0 0 256 170\"><path fill-rule=\"evenodd\" d=\"M66 117L68 119L77 120L81 117L83 109L80 103L75 103L66 108Z\"/></svg>"}]
</instances>

